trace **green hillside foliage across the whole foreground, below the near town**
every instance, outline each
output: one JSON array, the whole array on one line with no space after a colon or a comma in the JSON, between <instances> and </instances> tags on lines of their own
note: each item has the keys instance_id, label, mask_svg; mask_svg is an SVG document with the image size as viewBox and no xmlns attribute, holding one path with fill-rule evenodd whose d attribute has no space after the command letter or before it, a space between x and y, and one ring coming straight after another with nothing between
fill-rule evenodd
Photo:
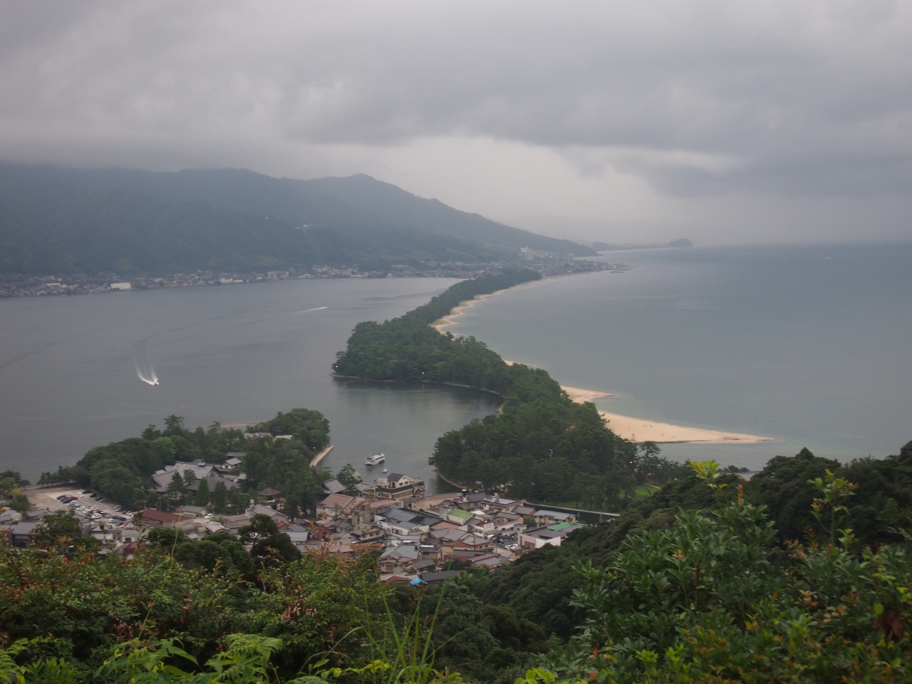
<instances>
[{"instance_id":1,"label":"green hillside foliage across the whole foreground, below the near town","mask_svg":"<svg viewBox=\"0 0 912 684\"><path fill-rule=\"evenodd\" d=\"M214 672L240 668L244 658L217 658L244 643L253 649L244 662L268 659L273 681L323 658L341 668L330 679L377 681L401 659L408 629L406 649L427 641L430 650L399 681L432 679L430 659L470 681L510 681L536 658L546 669L532 676L544 680L907 681L912 556L896 530L912 511L903 480L912 443L897 458L827 472L831 464L802 451L772 459L751 482L701 466L559 547L423 589L378 584L370 555L292 560L268 519L241 540L155 529L126 561L86 553L91 544L74 544L61 515L39 535L42 548L0 550L0 667L25 681L128 681L128 671L136 681L261 680ZM863 484L878 478L896 496ZM774 510L757 503L770 497ZM875 525L847 531L871 510ZM783 544L774 521L788 511L807 513L807 524ZM892 530L878 519L887 515ZM141 662L162 658L186 674L142 679ZM70 679L54 679L61 668ZM97 668L101 679L91 679ZM419 670L427 677L415 679Z\"/></svg>"}]
</instances>

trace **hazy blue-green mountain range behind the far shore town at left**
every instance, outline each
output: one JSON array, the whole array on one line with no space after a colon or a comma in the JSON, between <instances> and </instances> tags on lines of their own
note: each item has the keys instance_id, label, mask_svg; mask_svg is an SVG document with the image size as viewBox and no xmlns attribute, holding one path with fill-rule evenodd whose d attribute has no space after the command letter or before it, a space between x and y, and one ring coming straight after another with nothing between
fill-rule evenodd
<instances>
[{"instance_id":1,"label":"hazy blue-green mountain range behind the far shore town at left","mask_svg":"<svg viewBox=\"0 0 912 684\"><path fill-rule=\"evenodd\" d=\"M365 175L156 173L0 163L0 275L251 271L596 251L460 212Z\"/></svg>"}]
</instances>

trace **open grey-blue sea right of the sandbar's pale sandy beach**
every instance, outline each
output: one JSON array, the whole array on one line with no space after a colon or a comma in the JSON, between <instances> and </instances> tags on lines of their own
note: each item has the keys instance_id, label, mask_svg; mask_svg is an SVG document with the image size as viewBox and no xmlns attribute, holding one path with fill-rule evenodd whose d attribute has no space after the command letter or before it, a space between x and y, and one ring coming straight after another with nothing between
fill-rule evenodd
<instances>
[{"instance_id":1,"label":"open grey-blue sea right of the sandbar's pale sandy beach","mask_svg":"<svg viewBox=\"0 0 912 684\"><path fill-rule=\"evenodd\" d=\"M777 438L663 445L750 468L806 446L839 459L912 440L912 245L638 250L635 266L546 280L474 306L453 333L604 410Z\"/></svg>"}]
</instances>

